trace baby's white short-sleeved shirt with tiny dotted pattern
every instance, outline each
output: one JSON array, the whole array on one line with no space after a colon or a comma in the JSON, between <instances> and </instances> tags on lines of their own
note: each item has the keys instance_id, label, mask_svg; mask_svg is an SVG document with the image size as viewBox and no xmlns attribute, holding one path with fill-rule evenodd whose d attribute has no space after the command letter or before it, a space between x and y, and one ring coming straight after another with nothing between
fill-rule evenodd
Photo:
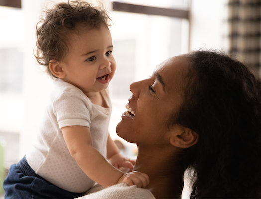
<instances>
[{"instance_id":1,"label":"baby's white short-sleeved shirt with tiny dotted pattern","mask_svg":"<svg viewBox=\"0 0 261 199\"><path fill-rule=\"evenodd\" d=\"M26 154L32 169L54 185L70 191L85 192L94 185L71 157L63 139L62 127L90 128L92 145L106 158L106 143L111 116L108 89L101 92L109 108L91 103L77 87L57 79L55 90L40 128L37 143Z\"/></svg>"}]
</instances>

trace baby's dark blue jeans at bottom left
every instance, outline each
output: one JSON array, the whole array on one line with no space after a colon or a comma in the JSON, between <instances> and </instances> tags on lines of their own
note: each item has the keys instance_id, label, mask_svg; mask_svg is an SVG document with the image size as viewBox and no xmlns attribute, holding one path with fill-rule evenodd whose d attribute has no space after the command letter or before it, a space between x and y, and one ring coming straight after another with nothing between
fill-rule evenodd
<instances>
[{"instance_id":1,"label":"baby's dark blue jeans at bottom left","mask_svg":"<svg viewBox=\"0 0 261 199\"><path fill-rule=\"evenodd\" d=\"M73 199L81 193L63 190L37 175L24 157L11 165L4 180L4 199Z\"/></svg>"}]
</instances>

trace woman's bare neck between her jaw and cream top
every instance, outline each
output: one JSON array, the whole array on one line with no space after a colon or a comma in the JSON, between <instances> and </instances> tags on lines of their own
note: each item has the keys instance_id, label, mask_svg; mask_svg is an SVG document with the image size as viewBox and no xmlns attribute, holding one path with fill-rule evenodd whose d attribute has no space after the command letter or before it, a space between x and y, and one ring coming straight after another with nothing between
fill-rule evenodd
<instances>
[{"instance_id":1,"label":"woman's bare neck between her jaw and cream top","mask_svg":"<svg viewBox=\"0 0 261 199\"><path fill-rule=\"evenodd\" d=\"M139 149L134 170L149 176L150 183L146 189L150 190L156 199L181 198L185 169L178 169L166 154Z\"/></svg>"}]
</instances>

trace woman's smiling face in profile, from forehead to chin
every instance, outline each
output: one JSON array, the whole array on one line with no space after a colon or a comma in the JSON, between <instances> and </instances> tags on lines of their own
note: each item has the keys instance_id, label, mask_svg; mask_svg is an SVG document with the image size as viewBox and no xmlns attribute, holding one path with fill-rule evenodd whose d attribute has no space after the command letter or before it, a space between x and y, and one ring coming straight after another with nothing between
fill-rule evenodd
<instances>
[{"instance_id":1,"label":"woman's smiling face in profile, from forehead to chin","mask_svg":"<svg viewBox=\"0 0 261 199\"><path fill-rule=\"evenodd\" d=\"M139 145L156 146L169 141L166 122L182 104L182 87L189 64L183 56L169 58L156 66L149 79L130 85L133 93L129 98L130 116L126 112L122 114L116 127L120 137Z\"/></svg>"}]
</instances>

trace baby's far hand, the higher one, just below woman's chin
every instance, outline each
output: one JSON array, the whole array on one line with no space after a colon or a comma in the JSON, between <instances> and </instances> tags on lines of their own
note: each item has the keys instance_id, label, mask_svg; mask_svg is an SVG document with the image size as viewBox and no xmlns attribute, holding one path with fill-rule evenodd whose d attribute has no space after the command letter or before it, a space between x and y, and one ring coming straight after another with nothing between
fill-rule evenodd
<instances>
[{"instance_id":1,"label":"baby's far hand, the higher one, just below woman's chin","mask_svg":"<svg viewBox=\"0 0 261 199\"><path fill-rule=\"evenodd\" d=\"M117 153L109 159L109 162L117 169L120 169L121 167L125 167L125 168L129 168L130 171L132 171L136 163L136 160L127 158L121 155L120 153Z\"/></svg>"}]
</instances>

